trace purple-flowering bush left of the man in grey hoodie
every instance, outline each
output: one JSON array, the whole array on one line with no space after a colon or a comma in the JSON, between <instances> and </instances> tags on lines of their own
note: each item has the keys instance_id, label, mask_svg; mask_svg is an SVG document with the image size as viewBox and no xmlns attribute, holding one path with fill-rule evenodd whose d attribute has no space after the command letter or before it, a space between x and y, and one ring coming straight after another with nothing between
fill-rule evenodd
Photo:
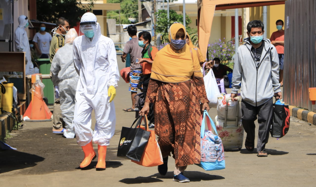
<instances>
[{"instance_id":1,"label":"purple-flowering bush left of the man in grey hoodie","mask_svg":"<svg viewBox=\"0 0 316 187\"><path fill-rule=\"evenodd\" d=\"M224 38L225 39L225 38ZM208 44L209 60L214 58L221 59L222 64L228 65L233 63L233 55L235 53L235 39L232 38L228 41L216 40L213 44Z\"/></svg>"}]
</instances>

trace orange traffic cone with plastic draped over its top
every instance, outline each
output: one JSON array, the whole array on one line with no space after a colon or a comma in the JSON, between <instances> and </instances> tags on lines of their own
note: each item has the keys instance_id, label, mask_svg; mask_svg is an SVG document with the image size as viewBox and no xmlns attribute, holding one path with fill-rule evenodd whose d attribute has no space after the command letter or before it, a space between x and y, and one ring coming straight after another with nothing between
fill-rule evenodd
<instances>
[{"instance_id":1,"label":"orange traffic cone with plastic draped over its top","mask_svg":"<svg viewBox=\"0 0 316 187\"><path fill-rule=\"evenodd\" d=\"M29 110L29 108L31 108L30 115L27 114L27 112L29 111L26 111L24 116L30 116L30 120L25 120L25 121L30 121L30 122L52 121L51 120L52 113L48 109L46 103L44 102L42 98L41 88L38 85L35 86L33 101L30 103L27 110Z\"/></svg>"}]
</instances>

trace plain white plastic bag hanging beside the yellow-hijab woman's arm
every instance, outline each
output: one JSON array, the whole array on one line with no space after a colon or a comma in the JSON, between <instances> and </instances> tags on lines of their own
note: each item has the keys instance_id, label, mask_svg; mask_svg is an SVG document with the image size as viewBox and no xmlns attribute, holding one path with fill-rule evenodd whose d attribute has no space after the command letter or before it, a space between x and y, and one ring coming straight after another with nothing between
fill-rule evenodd
<instances>
[{"instance_id":1,"label":"plain white plastic bag hanging beside the yellow-hijab woman's arm","mask_svg":"<svg viewBox=\"0 0 316 187\"><path fill-rule=\"evenodd\" d=\"M220 96L221 93L219 92L213 70L210 69L209 73L207 73L205 75L204 85L205 85L207 99L210 101L209 106L211 108L216 108L217 107L217 97Z\"/></svg>"}]
</instances>

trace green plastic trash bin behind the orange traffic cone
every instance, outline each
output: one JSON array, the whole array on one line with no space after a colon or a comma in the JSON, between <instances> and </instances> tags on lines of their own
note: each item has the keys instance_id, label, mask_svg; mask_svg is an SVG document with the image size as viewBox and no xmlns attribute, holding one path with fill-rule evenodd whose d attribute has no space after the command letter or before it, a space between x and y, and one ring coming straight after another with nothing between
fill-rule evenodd
<instances>
[{"instance_id":1,"label":"green plastic trash bin behind the orange traffic cone","mask_svg":"<svg viewBox=\"0 0 316 187\"><path fill-rule=\"evenodd\" d=\"M51 62L49 58L39 58L37 63L40 66L40 73L50 74ZM44 97L47 98L48 104L54 104L54 85L52 79L42 79L45 88L44 88Z\"/></svg>"}]
</instances>

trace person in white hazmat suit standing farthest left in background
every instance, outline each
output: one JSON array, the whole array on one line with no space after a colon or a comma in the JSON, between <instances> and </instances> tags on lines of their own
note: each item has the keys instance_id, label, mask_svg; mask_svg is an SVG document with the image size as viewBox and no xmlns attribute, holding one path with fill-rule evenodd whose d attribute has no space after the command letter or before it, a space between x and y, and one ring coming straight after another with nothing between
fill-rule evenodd
<instances>
[{"instance_id":1,"label":"person in white hazmat suit standing farthest left in background","mask_svg":"<svg viewBox=\"0 0 316 187\"><path fill-rule=\"evenodd\" d=\"M32 75L34 74L34 66L31 58L30 44L28 43L28 36L25 28L27 28L28 26L33 28L33 25L25 15L20 15L18 21L19 26L14 31L15 51L25 52L25 74Z\"/></svg>"}]
</instances>

